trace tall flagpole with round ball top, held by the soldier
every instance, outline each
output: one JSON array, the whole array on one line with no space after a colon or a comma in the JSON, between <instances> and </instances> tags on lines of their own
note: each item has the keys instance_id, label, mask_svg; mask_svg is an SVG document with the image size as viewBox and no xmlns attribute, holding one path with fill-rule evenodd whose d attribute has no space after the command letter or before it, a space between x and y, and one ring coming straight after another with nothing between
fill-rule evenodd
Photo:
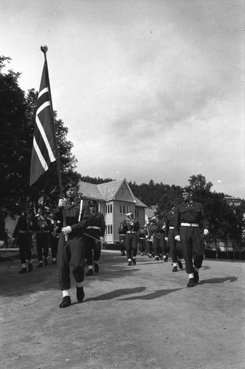
<instances>
[{"instance_id":1,"label":"tall flagpole with round ball top, held by the soldier","mask_svg":"<svg viewBox=\"0 0 245 369\"><path fill-rule=\"evenodd\" d=\"M53 104L52 104L52 97L51 97L51 89L50 89L50 83L49 83L49 74L48 74L48 62L46 58L46 52L48 51L47 45L42 45L41 50L44 53L44 59L45 59L45 66L46 66L46 73L47 73L47 81L48 81L48 94L49 94L49 101L50 101L50 110L51 110L51 116L52 116L52 123L53 123L53 130L54 130L54 137L55 137L55 144L57 148L57 169L58 169L58 178L59 178L59 189L61 193L61 199L64 200L63 196L63 186L62 186L62 179L61 179L61 166L59 164L59 152L58 152L58 144L57 144L57 138L56 138L56 131L55 131L55 118L54 118L54 110L53 110ZM63 212L63 226L66 227L66 217L65 217L65 207L62 206L62 212ZM69 241L69 235L65 235L66 241Z\"/></svg>"}]
</instances>

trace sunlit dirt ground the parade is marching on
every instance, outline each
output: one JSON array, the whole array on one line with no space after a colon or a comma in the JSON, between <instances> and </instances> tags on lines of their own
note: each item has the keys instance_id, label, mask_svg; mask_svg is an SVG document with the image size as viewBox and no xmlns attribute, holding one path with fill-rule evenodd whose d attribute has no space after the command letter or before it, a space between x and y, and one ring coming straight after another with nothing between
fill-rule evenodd
<instances>
[{"instance_id":1,"label":"sunlit dirt ground the parade is marching on","mask_svg":"<svg viewBox=\"0 0 245 369\"><path fill-rule=\"evenodd\" d=\"M171 260L138 255L129 267L102 251L84 301L72 282L72 305L61 309L51 261L37 269L34 259L23 275L18 259L0 263L1 368L245 369L245 263L204 260L188 288Z\"/></svg>"}]
</instances>

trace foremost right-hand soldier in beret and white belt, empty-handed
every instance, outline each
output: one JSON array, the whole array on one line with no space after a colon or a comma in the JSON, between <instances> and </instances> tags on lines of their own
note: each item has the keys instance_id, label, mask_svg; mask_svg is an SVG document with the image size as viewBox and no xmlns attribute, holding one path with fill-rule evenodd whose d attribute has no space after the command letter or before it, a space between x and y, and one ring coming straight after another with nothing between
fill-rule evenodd
<instances>
[{"instance_id":1,"label":"foremost right-hand soldier in beret and white belt, empty-handed","mask_svg":"<svg viewBox=\"0 0 245 369\"><path fill-rule=\"evenodd\" d=\"M189 274L187 287L194 287L199 281L199 269L204 255L204 245L201 239L200 225L204 228L204 234L208 235L209 222L204 213L203 206L192 200L192 190L185 187L182 191L184 202L175 208L174 235L180 241L186 273ZM194 267L192 261L194 255Z\"/></svg>"}]
</instances>

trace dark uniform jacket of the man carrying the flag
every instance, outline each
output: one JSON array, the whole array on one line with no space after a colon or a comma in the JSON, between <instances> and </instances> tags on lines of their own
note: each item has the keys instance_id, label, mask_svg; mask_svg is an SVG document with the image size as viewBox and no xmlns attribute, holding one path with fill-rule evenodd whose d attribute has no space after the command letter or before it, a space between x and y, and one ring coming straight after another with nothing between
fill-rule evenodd
<instances>
[{"instance_id":1,"label":"dark uniform jacket of the man carrying the flag","mask_svg":"<svg viewBox=\"0 0 245 369\"><path fill-rule=\"evenodd\" d=\"M83 200L82 206L82 214L80 218L80 222L78 223L79 212L80 212L80 203L81 199L76 197L73 205L70 203L69 200L66 200L65 204L65 215L66 215L66 225L70 226L72 232L69 233L71 237L75 237L75 235L81 235L82 232L89 226L90 221L90 210L89 204ZM59 206L56 207L53 213L54 220L60 220L63 226L63 212L62 208Z\"/></svg>"}]
</instances>

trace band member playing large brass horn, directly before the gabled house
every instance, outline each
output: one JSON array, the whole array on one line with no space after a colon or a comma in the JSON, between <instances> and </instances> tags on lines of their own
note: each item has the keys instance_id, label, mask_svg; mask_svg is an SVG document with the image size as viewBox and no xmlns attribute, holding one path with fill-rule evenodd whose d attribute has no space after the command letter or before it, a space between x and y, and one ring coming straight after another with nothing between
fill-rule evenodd
<instances>
[{"instance_id":1,"label":"band member playing large brass horn, directly before the gabled house","mask_svg":"<svg viewBox=\"0 0 245 369\"><path fill-rule=\"evenodd\" d=\"M134 219L134 213L127 214L127 218L123 221L123 229L126 231L126 252L128 265L136 264L135 256L137 255L137 231L140 225L137 219Z\"/></svg>"}]
</instances>

